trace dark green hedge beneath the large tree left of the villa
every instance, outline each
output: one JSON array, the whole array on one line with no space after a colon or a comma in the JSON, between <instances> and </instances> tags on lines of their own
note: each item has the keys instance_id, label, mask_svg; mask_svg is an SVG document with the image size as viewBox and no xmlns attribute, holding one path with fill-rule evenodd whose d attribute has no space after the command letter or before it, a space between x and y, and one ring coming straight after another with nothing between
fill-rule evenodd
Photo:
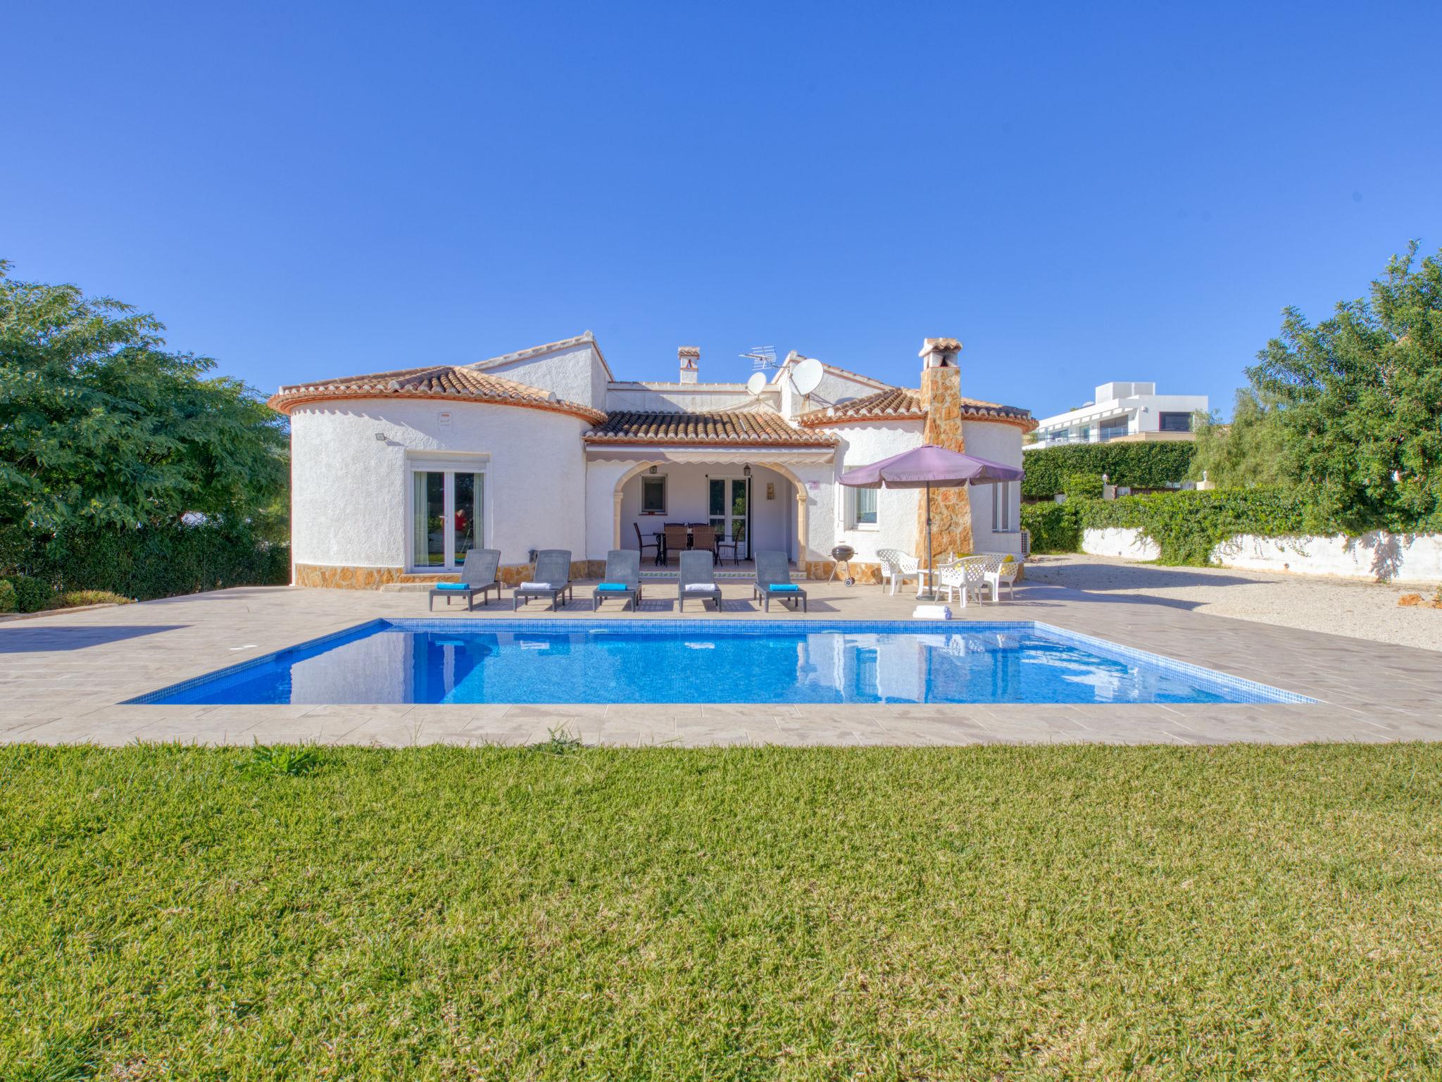
<instances>
[{"instance_id":1,"label":"dark green hedge beneath the large tree left of the villa","mask_svg":"<svg viewBox=\"0 0 1442 1082\"><path fill-rule=\"evenodd\" d=\"M62 534L33 541L12 560L20 576L7 577L16 583L22 577L39 580L46 603L69 590L110 590L144 602L290 581L287 545L268 544L245 525L224 522Z\"/></svg>"}]
</instances>

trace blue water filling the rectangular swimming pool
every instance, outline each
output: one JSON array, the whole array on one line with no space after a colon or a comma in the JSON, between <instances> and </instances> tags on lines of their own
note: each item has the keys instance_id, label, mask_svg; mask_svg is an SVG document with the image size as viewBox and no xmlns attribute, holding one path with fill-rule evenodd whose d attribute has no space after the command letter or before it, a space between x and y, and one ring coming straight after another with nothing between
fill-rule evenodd
<instances>
[{"instance_id":1,"label":"blue water filling the rectangular swimming pool","mask_svg":"<svg viewBox=\"0 0 1442 1082\"><path fill-rule=\"evenodd\" d=\"M1043 623L373 620L136 703L1305 703Z\"/></svg>"}]
</instances>

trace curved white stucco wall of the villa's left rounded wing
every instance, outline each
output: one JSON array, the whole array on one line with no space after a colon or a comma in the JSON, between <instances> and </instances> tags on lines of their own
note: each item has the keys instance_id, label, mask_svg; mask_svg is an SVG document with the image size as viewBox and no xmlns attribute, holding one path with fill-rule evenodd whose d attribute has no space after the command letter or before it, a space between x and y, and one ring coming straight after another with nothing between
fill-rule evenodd
<instances>
[{"instance_id":1,"label":"curved white stucco wall of the villa's left rounded wing","mask_svg":"<svg viewBox=\"0 0 1442 1082\"><path fill-rule=\"evenodd\" d=\"M291 414L291 558L410 567L410 465L470 454L464 460L486 472L486 548L499 548L503 564L525 563L531 548L570 548L580 560L587 427L568 414L482 403L298 407Z\"/></svg>"}]
</instances>

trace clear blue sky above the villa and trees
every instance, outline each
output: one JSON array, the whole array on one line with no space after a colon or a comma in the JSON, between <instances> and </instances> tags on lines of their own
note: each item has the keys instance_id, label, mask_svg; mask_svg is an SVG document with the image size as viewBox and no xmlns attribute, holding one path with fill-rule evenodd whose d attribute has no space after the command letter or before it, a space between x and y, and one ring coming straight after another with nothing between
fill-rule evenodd
<instances>
[{"instance_id":1,"label":"clear blue sky above the villa and trees","mask_svg":"<svg viewBox=\"0 0 1442 1082\"><path fill-rule=\"evenodd\" d=\"M593 329L1226 407L1442 247L1442 4L9 4L0 255L262 390Z\"/></svg>"}]
</instances>

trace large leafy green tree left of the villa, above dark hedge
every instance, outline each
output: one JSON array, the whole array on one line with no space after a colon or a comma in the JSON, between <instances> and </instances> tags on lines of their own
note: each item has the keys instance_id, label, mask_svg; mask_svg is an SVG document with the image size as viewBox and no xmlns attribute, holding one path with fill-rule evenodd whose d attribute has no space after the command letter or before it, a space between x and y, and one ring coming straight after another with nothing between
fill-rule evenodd
<instances>
[{"instance_id":1,"label":"large leafy green tree left of the villa, above dark hedge","mask_svg":"<svg viewBox=\"0 0 1442 1082\"><path fill-rule=\"evenodd\" d=\"M264 516L286 430L215 361L164 349L154 316L0 261L0 527L30 538Z\"/></svg>"}]
</instances>

